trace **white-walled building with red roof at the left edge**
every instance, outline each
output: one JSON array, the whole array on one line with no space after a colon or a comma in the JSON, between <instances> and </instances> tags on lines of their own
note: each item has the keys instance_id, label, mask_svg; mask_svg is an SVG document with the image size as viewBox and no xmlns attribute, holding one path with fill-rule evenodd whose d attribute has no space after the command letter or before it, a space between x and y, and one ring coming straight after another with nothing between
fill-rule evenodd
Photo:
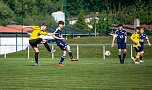
<instances>
[{"instance_id":1,"label":"white-walled building with red roof at the left edge","mask_svg":"<svg viewBox=\"0 0 152 90\"><path fill-rule=\"evenodd\" d=\"M29 45L27 31L31 28L22 29L21 25L0 26L0 55L21 51Z\"/></svg>"}]
</instances>

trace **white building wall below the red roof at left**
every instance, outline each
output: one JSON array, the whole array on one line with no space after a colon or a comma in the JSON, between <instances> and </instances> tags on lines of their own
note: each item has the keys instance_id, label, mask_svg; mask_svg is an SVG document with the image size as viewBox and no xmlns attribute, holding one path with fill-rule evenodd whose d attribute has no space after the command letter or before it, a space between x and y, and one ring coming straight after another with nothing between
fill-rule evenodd
<instances>
[{"instance_id":1,"label":"white building wall below the red roof at left","mask_svg":"<svg viewBox=\"0 0 152 90\"><path fill-rule=\"evenodd\" d=\"M29 45L28 37L23 37L23 45ZM26 48L27 46L23 46L23 50L25 50ZM17 37L17 51L21 51L21 50L22 50L22 37ZM12 53L12 52L16 52L16 37L0 37L0 54Z\"/></svg>"}]
</instances>

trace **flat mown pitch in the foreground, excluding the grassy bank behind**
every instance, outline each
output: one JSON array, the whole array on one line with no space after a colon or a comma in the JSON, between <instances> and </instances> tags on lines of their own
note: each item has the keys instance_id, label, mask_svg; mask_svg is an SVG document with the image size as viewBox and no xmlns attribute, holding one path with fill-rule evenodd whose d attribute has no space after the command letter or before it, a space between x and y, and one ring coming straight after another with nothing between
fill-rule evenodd
<instances>
[{"instance_id":1,"label":"flat mown pitch in the foreground, excluding the grassy bank behind","mask_svg":"<svg viewBox=\"0 0 152 90\"><path fill-rule=\"evenodd\" d=\"M117 58L80 59L64 62L42 59L35 67L34 59L9 58L0 60L0 90L151 90L152 60L124 65Z\"/></svg>"}]
</instances>

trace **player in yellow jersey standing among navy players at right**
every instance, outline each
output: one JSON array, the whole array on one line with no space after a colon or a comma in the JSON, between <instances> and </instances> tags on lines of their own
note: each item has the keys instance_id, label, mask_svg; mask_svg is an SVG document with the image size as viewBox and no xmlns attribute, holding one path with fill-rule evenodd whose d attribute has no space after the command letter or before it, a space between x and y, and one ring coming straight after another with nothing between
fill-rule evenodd
<instances>
[{"instance_id":1,"label":"player in yellow jersey standing among navy players at right","mask_svg":"<svg viewBox=\"0 0 152 90\"><path fill-rule=\"evenodd\" d=\"M132 58L132 60L134 61L135 64L140 64L139 63L139 58L141 55L141 46L140 46L140 27L136 27L135 33L132 34L132 36L130 37L131 40L133 41L133 47L135 48L135 51L137 52L137 55L135 56L135 58Z\"/></svg>"}]
</instances>

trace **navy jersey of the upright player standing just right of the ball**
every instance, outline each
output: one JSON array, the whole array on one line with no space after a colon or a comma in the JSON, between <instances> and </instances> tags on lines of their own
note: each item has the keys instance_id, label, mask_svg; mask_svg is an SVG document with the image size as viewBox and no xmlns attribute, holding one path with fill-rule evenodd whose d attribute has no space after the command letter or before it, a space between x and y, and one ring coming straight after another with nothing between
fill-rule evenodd
<instances>
[{"instance_id":1,"label":"navy jersey of the upright player standing just right of the ball","mask_svg":"<svg viewBox=\"0 0 152 90\"><path fill-rule=\"evenodd\" d=\"M114 36L117 37L117 43L125 43L126 30L116 30Z\"/></svg>"}]
</instances>

